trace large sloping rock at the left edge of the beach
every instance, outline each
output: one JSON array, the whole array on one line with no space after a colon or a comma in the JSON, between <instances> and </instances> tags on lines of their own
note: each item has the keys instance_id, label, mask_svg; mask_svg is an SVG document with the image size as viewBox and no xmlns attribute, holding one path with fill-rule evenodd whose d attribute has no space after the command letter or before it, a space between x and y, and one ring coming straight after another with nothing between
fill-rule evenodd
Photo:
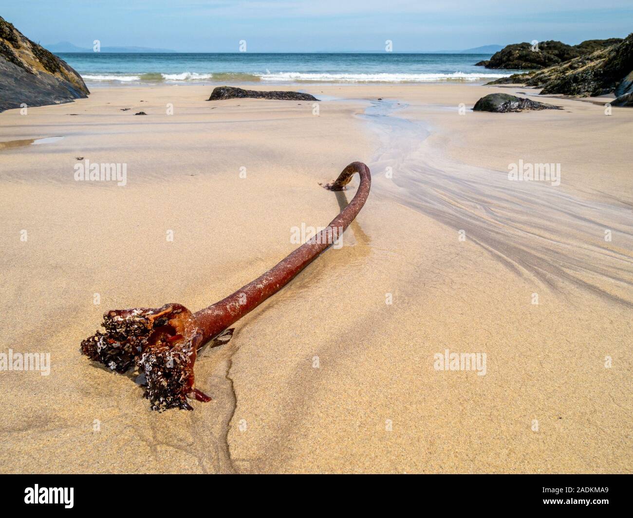
<instances>
[{"instance_id":1,"label":"large sloping rock at the left edge of the beach","mask_svg":"<svg viewBox=\"0 0 633 518\"><path fill-rule=\"evenodd\" d=\"M60 104L87 97L81 76L68 63L32 42L0 17L0 111Z\"/></svg>"}]
</instances>

